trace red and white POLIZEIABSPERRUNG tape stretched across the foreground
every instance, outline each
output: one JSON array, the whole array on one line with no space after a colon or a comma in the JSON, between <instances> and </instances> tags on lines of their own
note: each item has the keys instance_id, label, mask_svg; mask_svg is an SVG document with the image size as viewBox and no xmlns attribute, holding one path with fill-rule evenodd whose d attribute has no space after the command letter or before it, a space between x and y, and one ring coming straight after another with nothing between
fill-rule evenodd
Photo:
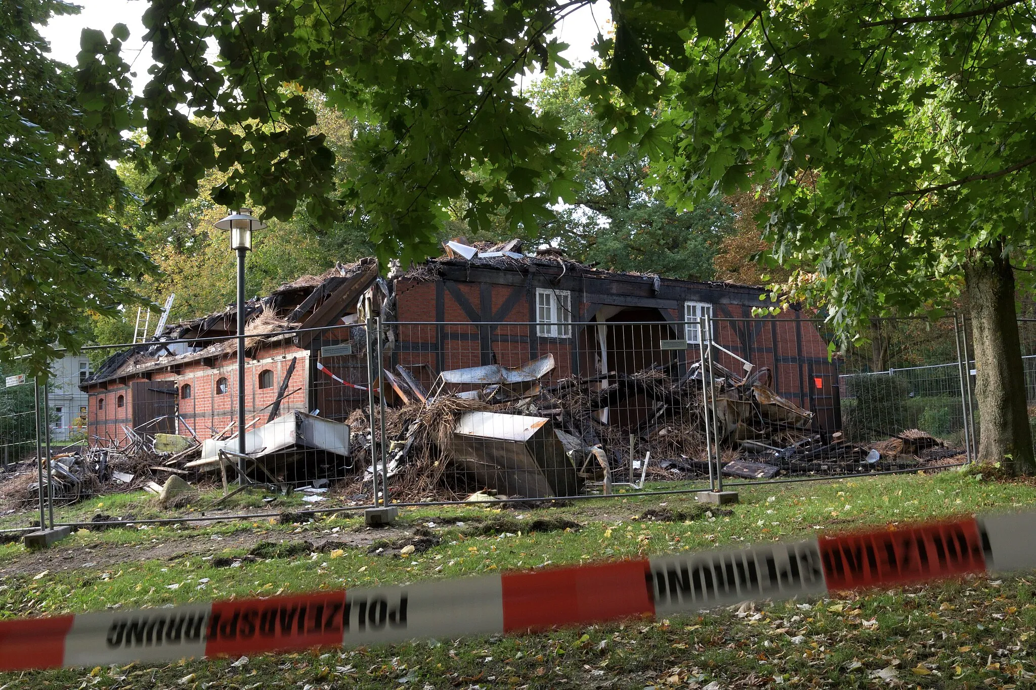
<instances>
[{"instance_id":1,"label":"red and white POLIZEIABSPERRUNG tape stretched across the foreground","mask_svg":"<svg viewBox=\"0 0 1036 690\"><path fill-rule=\"evenodd\" d=\"M261 654L666 617L1036 567L1036 513L402 587L0 622L0 670Z\"/></svg>"}]
</instances>

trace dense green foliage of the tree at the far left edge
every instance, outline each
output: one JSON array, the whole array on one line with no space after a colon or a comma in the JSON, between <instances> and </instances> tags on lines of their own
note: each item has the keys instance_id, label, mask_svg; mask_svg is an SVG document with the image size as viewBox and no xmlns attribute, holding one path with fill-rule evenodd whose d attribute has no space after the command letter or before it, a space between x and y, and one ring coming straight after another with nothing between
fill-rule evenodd
<instances>
[{"instance_id":1,"label":"dense green foliage of the tree at the far left edge","mask_svg":"<svg viewBox=\"0 0 1036 690\"><path fill-rule=\"evenodd\" d=\"M83 312L113 312L126 281L150 268L114 220L133 200L109 164L131 145L111 127L133 122L103 92L80 91L34 26L74 11L57 0L0 3L0 360L28 354L19 373L46 376L57 347L81 342ZM84 39L102 54L120 46ZM124 70L107 73L111 90L128 88Z\"/></svg>"}]
</instances>

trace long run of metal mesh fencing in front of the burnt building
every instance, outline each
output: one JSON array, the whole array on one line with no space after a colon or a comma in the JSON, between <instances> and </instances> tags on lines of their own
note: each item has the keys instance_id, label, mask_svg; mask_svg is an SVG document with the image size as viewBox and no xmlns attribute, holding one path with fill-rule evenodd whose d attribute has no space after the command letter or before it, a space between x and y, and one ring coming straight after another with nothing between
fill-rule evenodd
<instances>
[{"instance_id":1,"label":"long run of metal mesh fencing in front of the burnt building","mask_svg":"<svg viewBox=\"0 0 1036 690\"><path fill-rule=\"evenodd\" d=\"M56 367L47 388L63 397L49 407L31 384L0 391L0 492L10 505L20 486L24 509L33 491L53 492L60 522L84 497L159 493L170 477L221 496L301 491L319 510L386 493L420 503L693 491L923 470L974 452L958 320L874 322L872 346L833 353L825 324L794 310L628 313L249 333L243 454L236 337L92 348L86 365ZM1027 383L1034 360L1028 353ZM37 409L49 420L42 463Z\"/></svg>"}]
</instances>

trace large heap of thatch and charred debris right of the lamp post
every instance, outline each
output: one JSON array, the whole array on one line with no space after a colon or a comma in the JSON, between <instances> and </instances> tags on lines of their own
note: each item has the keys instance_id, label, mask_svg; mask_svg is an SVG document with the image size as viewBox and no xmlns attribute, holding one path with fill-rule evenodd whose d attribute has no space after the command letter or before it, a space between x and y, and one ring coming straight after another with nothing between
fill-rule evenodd
<instances>
[{"instance_id":1,"label":"large heap of thatch and charred debris right of the lamp post","mask_svg":"<svg viewBox=\"0 0 1036 690\"><path fill-rule=\"evenodd\" d=\"M904 470L924 467L926 454L953 454L917 429L869 445L817 430L811 412L770 388L767 367L746 365L739 376L714 364L708 381L699 363L682 376L675 364L653 365L547 386L553 369L552 355L520 367L455 369L441 372L430 390L402 366L398 376L385 371L384 381L406 401L385 412L394 497L551 498L576 494L586 482L636 485L642 472L655 479L708 476L707 410L722 472L730 477ZM608 423L609 413L623 423ZM362 481L370 485L370 421L357 410L349 424L353 460L367 468ZM380 464L377 472L380 482Z\"/></svg>"}]
</instances>

